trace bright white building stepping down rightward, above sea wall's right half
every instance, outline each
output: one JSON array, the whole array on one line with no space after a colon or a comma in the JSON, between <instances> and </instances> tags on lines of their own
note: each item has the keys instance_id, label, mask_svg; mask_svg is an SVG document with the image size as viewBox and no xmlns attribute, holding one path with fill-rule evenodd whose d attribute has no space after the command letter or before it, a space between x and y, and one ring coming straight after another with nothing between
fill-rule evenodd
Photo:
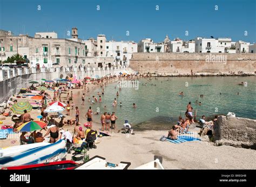
<instances>
[{"instance_id":1,"label":"bright white building stepping down rightward, above sea wall's right half","mask_svg":"<svg viewBox=\"0 0 256 187\"><path fill-rule=\"evenodd\" d=\"M225 47L219 46L219 41L215 38L195 39L195 52L197 53L224 53Z\"/></svg>"}]
</instances>

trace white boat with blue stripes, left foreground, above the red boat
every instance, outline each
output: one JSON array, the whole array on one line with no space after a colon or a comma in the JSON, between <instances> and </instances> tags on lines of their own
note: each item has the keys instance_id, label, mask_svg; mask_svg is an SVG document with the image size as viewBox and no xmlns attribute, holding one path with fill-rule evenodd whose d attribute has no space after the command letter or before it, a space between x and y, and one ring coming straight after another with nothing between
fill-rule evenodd
<instances>
[{"instance_id":1,"label":"white boat with blue stripes, left foreground, above the red boat","mask_svg":"<svg viewBox=\"0 0 256 187\"><path fill-rule=\"evenodd\" d=\"M65 156L66 141L58 140L55 143L32 148L22 153L5 155L0 158L0 167L53 162L62 160Z\"/></svg>"}]
</instances>

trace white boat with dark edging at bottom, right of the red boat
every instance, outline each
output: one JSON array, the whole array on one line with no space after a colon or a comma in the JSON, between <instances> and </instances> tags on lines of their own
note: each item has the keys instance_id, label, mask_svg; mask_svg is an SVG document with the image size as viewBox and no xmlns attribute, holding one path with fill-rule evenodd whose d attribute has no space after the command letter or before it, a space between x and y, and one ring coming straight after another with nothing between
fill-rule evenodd
<instances>
[{"instance_id":1,"label":"white boat with dark edging at bottom, right of the red boat","mask_svg":"<svg viewBox=\"0 0 256 187\"><path fill-rule=\"evenodd\" d=\"M78 169L127 169L131 165L130 162L120 162L119 164L113 164L106 162L105 158L100 156L94 156L90 158L87 162L77 165L75 170Z\"/></svg>"}]
</instances>

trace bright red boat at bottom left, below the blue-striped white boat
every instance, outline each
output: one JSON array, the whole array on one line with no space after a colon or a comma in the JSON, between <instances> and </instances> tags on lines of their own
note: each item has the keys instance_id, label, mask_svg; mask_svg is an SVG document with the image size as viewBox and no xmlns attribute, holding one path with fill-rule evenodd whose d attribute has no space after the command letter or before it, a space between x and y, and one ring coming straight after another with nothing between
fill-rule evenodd
<instances>
[{"instance_id":1,"label":"bright red boat at bottom left, below the blue-striped white boat","mask_svg":"<svg viewBox=\"0 0 256 187\"><path fill-rule=\"evenodd\" d=\"M78 163L74 161L45 162L41 164L3 167L2 170L72 170Z\"/></svg>"}]
</instances>

